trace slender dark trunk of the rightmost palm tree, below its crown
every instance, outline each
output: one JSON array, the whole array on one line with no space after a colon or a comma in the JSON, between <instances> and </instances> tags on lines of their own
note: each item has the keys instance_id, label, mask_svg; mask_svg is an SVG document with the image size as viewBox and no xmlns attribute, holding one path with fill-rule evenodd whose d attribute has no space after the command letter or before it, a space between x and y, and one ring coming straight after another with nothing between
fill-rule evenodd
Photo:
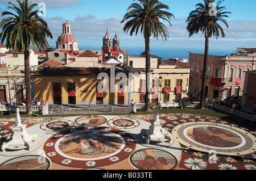
<instances>
[{"instance_id":1,"label":"slender dark trunk of the rightmost palm tree, below its crown","mask_svg":"<svg viewBox=\"0 0 256 181\"><path fill-rule=\"evenodd\" d=\"M203 68L203 79L202 79L201 97L200 97L200 109L204 109L205 80L206 80L206 74L207 74L208 53L209 53L209 37L205 37L204 68Z\"/></svg>"}]
</instances>

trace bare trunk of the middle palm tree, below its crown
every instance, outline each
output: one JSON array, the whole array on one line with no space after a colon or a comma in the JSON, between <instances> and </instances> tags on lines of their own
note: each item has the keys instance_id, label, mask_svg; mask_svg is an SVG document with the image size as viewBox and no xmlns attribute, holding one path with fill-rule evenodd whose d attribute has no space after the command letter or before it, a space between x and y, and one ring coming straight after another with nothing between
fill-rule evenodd
<instances>
[{"instance_id":1,"label":"bare trunk of the middle palm tree, below its crown","mask_svg":"<svg viewBox=\"0 0 256 181\"><path fill-rule=\"evenodd\" d=\"M146 55L146 94L145 94L145 110L150 111L150 36L145 37L145 55Z\"/></svg>"}]
</instances>

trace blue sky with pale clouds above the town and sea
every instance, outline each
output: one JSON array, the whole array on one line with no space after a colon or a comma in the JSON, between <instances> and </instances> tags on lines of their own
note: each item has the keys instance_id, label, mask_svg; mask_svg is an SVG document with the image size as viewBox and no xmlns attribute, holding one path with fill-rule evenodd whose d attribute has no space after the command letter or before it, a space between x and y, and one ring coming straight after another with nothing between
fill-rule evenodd
<instances>
[{"instance_id":1,"label":"blue sky with pale clouds above the town and sea","mask_svg":"<svg viewBox=\"0 0 256 181\"><path fill-rule=\"evenodd\" d=\"M14 0L0 0L0 13L7 9L8 3ZM38 9L45 12L43 19L48 23L53 39L48 39L51 47L56 47L56 40L62 33L62 24L67 20L71 24L71 33L76 37L79 48L102 47L102 38L108 28L113 38L115 32L120 39L121 49L127 47L144 47L144 38L138 33L130 36L123 32L124 23L120 23L127 12L127 7L136 1L133 0L32 0L38 3ZM170 36L168 40L151 38L152 48L198 48L204 49L204 36L198 33L189 37L186 30L189 12L196 9L197 3L203 0L162 0L168 5L168 10L174 14L171 19L172 27L167 24ZM237 47L256 47L256 1L255 0L225 0L221 3L229 14L229 28L222 26L226 37L216 40L210 39L210 49L236 50ZM5 16L0 16L0 20ZM230 52L232 53L232 52Z\"/></svg>"}]
</instances>

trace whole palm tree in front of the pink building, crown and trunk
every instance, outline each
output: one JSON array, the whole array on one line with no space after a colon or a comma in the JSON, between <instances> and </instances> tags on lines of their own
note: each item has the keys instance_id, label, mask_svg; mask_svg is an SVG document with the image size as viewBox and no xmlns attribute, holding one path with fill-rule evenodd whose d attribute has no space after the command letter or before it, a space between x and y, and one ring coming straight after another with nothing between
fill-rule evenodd
<instances>
[{"instance_id":1,"label":"whole palm tree in front of the pink building, crown and trunk","mask_svg":"<svg viewBox=\"0 0 256 181\"><path fill-rule=\"evenodd\" d=\"M205 98L205 79L207 72L207 64L208 64L208 52L209 52L209 38L215 36L216 39L221 36L225 37L225 32L218 24L218 22L222 22L228 28L228 23L224 19L224 17L228 17L226 14L230 14L231 12L223 11L226 8L224 6L220 7L220 4L223 1L218 1L215 3L215 0L204 0L203 3L198 3L196 5L197 9L191 11L187 22L187 30L189 32L189 37L198 33L199 31L204 33L205 37L205 50L204 50L204 66L203 66L203 80L201 87L201 97L200 97L200 108L204 108L204 98Z\"/></svg>"}]
</instances>

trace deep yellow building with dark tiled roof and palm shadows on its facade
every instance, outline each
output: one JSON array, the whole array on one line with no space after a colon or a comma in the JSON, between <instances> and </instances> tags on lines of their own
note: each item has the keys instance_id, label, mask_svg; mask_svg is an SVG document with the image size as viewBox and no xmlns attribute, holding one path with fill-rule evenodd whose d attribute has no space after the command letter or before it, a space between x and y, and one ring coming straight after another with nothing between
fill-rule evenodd
<instances>
[{"instance_id":1,"label":"deep yellow building with dark tiled roof and palm shadows on its facade","mask_svg":"<svg viewBox=\"0 0 256 181\"><path fill-rule=\"evenodd\" d=\"M127 73L120 68L46 67L33 75L34 94L49 104L128 104Z\"/></svg>"}]
</instances>

